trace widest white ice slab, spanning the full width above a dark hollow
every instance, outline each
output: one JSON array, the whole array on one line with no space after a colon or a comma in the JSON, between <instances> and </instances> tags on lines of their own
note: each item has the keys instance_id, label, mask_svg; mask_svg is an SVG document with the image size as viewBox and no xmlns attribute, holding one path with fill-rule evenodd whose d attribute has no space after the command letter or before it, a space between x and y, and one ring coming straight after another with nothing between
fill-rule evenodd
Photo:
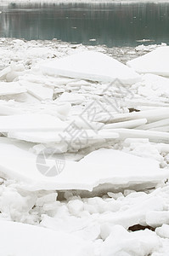
<instances>
[{"instance_id":1,"label":"widest white ice slab, spanning the full width above a dark hollow","mask_svg":"<svg viewBox=\"0 0 169 256\"><path fill-rule=\"evenodd\" d=\"M25 143L27 144L27 143ZM65 161L59 175L47 177L56 165L54 160L37 160L25 144L0 139L0 174L22 182L26 189L82 189L92 191L99 184L108 183L112 188L149 183L152 186L169 177L155 160L144 159L114 149L99 149L79 162ZM62 164L63 164L62 159ZM38 164L38 165L37 165ZM41 164L41 166L40 166ZM56 174L56 173L55 173Z\"/></svg>"}]
</instances>

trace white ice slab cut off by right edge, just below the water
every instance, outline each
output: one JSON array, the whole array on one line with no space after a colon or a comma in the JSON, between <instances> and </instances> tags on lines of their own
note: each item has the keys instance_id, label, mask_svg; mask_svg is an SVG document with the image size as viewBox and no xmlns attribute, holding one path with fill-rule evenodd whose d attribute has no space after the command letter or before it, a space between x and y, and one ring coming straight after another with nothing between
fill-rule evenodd
<instances>
[{"instance_id":1,"label":"white ice slab cut off by right edge, just below the water","mask_svg":"<svg viewBox=\"0 0 169 256\"><path fill-rule=\"evenodd\" d=\"M160 47L132 61L127 61L127 66L138 73L154 73L169 77L169 46Z\"/></svg>"}]
</instances>

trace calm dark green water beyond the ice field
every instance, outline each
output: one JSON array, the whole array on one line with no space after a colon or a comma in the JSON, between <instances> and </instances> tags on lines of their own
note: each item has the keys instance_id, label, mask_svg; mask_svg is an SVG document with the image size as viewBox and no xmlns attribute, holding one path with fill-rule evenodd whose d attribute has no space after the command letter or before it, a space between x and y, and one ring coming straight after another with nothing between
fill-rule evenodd
<instances>
[{"instance_id":1,"label":"calm dark green water beyond the ice field","mask_svg":"<svg viewBox=\"0 0 169 256\"><path fill-rule=\"evenodd\" d=\"M10 4L0 7L0 37L75 44L169 44L169 3Z\"/></svg>"}]
</instances>

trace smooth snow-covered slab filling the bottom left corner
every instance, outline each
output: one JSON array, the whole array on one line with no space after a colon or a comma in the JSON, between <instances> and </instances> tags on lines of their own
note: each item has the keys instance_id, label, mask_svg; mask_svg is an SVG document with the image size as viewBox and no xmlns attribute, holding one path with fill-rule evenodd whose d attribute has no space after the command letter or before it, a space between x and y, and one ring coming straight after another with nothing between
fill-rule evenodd
<instances>
[{"instance_id":1,"label":"smooth snow-covered slab filling the bottom left corner","mask_svg":"<svg viewBox=\"0 0 169 256\"><path fill-rule=\"evenodd\" d=\"M2 256L93 256L91 242L30 224L1 220L0 239Z\"/></svg>"}]
</instances>

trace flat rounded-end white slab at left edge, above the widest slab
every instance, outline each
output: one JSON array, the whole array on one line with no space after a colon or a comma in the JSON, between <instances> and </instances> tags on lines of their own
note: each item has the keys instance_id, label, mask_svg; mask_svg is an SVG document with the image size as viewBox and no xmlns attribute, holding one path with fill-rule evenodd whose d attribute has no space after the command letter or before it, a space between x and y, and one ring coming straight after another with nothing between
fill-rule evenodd
<instances>
[{"instance_id":1,"label":"flat rounded-end white slab at left edge, above the widest slab","mask_svg":"<svg viewBox=\"0 0 169 256\"><path fill-rule=\"evenodd\" d=\"M18 114L0 116L0 132L8 131L62 131L65 122L48 114Z\"/></svg>"}]
</instances>

